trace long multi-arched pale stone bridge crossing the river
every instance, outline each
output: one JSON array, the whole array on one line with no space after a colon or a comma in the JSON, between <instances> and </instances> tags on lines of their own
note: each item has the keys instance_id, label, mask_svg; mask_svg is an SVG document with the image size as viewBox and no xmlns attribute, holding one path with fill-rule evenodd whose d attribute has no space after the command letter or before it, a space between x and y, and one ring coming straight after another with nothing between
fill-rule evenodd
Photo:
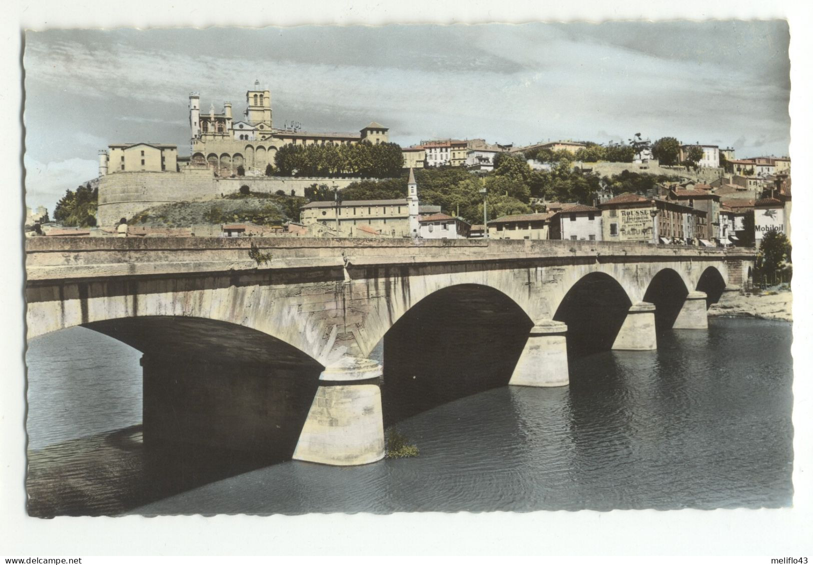
<instances>
[{"instance_id":1,"label":"long multi-arched pale stone bridge crossing the river","mask_svg":"<svg viewBox=\"0 0 813 565\"><path fill-rule=\"evenodd\" d=\"M388 406L417 384L432 396L483 369L489 386L567 385L568 355L706 328L753 260L597 241L41 237L26 242L28 338L81 325L140 350L145 444L282 441L293 459L371 463Z\"/></svg>"}]
</instances>

